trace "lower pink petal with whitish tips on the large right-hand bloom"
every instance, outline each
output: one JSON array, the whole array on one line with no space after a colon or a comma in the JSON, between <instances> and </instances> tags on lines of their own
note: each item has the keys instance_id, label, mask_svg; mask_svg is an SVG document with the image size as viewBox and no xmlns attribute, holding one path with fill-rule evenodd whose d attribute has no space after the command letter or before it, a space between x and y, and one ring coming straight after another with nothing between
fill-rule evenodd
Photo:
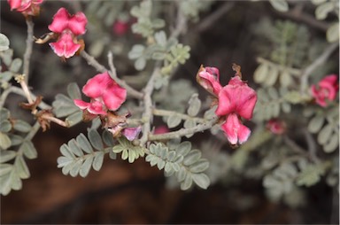
<instances>
[{"instance_id":1,"label":"lower pink petal with whitish tips on the large right-hand bloom","mask_svg":"<svg viewBox=\"0 0 340 225\"><path fill-rule=\"evenodd\" d=\"M243 144L251 135L251 130L242 124L236 113L228 114L227 120L222 124L221 128L224 130L230 144Z\"/></svg>"}]
</instances>

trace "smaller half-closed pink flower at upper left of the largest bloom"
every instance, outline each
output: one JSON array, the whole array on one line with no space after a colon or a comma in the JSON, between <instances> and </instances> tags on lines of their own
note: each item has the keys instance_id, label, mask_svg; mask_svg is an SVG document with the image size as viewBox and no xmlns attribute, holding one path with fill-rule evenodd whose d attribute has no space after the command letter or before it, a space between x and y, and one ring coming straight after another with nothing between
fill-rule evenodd
<instances>
[{"instance_id":1,"label":"smaller half-closed pink flower at upper left of the largest bloom","mask_svg":"<svg viewBox=\"0 0 340 225\"><path fill-rule=\"evenodd\" d=\"M220 89L222 89L218 68L201 66L198 70L196 80L204 89L214 96L218 96Z\"/></svg>"}]
</instances>

